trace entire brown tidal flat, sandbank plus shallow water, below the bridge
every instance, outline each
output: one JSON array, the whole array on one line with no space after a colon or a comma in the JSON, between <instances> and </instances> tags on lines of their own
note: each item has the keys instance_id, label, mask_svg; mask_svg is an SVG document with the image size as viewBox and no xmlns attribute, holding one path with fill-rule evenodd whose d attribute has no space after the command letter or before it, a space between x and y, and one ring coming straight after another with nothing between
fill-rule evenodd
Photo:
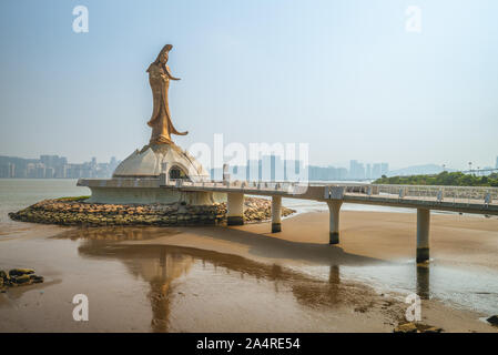
<instances>
[{"instance_id":1,"label":"entire brown tidal flat, sandbank plus shallow water, below the bridge","mask_svg":"<svg viewBox=\"0 0 498 355\"><path fill-rule=\"evenodd\" d=\"M276 234L257 223L40 226L38 235L2 236L0 267L34 267L47 282L0 295L0 331L392 332L404 322L408 292L389 287L389 277L409 278L429 298L433 276L451 276L448 267L457 277L490 275L477 277L476 290L496 297L497 219L433 215L429 268L414 261L415 214L345 211L341 222L336 246L327 244L328 213L319 212L285 219ZM90 322L72 320L77 293L89 295ZM496 332L479 320L489 315L423 300L423 323L445 332Z\"/></svg>"}]
</instances>

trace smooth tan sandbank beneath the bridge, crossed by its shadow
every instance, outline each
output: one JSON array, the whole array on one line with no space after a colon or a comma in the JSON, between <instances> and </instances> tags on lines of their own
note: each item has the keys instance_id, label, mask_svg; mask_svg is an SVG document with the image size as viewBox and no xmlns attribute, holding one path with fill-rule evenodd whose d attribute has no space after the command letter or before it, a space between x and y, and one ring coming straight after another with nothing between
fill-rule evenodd
<instances>
[{"instance_id":1,"label":"smooth tan sandbank beneath the bridge, crossed by its shadow","mask_svg":"<svg viewBox=\"0 0 498 355\"><path fill-rule=\"evenodd\" d=\"M281 233L270 223L237 227L181 229L182 235L156 242L236 253L288 264L369 264L415 258L416 214L341 214L341 243L328 245L328 212L285 219ZM325 246L326 245L326 246ZM430 256L438 263L486 267L498 274L498 219L433 214Z\"/></svg>"}]
</instances>

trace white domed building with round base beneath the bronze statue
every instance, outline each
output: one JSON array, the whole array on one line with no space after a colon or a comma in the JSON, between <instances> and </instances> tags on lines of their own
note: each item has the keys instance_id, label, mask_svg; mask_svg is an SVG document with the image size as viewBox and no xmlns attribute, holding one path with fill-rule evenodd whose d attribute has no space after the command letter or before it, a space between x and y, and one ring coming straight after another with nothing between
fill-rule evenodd
<instances>
[{"instance_id":1,"label":"white domed building with round base beneath the bronze statue","mask_svg":"<svg viewBox=\"0 0 498 355\"><path fill-rule=\"evenodd\" d=\"M80 179L78 185L92 191L90 203L210 205L226 201L225 193L175 189L176 180L210 181L210 174L180 146L153 144L123 160L112 179Z\"/></svg>"}]
</instances>

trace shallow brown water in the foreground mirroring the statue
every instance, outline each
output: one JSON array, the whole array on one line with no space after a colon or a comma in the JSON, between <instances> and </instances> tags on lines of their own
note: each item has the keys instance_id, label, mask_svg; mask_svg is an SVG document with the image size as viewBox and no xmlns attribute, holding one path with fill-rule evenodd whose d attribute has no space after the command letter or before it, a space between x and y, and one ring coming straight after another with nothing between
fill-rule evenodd
<instances>
[{"instance_id":1,"label":"shallow brown water in the foreground mirroring the statue","mask_svg":"<svg viewBox=\"0 0 498 355\"><path fill-rule=\"evenodd\" d=\"M115 233L121 241L175 233L157 230ZM342 281L337 267L321 281L234 255L102 241L109 233L3 241L0 268L30 266L45 282L0 295L0 331L355 331L362 327L344 324L343 306L372 300L368 288ZM89 322L72 318L75 294L89 298Z\"/></svg>"}]
</instances>

